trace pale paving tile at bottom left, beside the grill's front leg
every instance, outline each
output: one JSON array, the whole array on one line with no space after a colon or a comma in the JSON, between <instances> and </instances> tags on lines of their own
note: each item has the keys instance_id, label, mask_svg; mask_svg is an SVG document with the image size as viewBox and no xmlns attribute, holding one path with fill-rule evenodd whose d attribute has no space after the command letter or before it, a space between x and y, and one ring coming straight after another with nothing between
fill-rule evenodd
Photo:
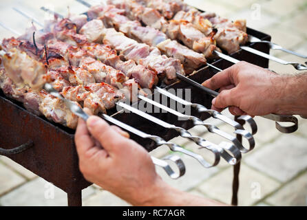
<instances>
[{"instance_id":1,"label":"pale paving tile at bottom left, beside the grill's front leg","mask_svg":"<svg viewBox=\"0 0 307 220\"><path fill-rule=\"evenodd\" d=\"M84 189L83 199L92 195L94 191L95 189L92 186ZM45 179L37 178L0 197L0 205L67 206L67 194L60 188L50 185Z\"/></svg>"}]
</instances>

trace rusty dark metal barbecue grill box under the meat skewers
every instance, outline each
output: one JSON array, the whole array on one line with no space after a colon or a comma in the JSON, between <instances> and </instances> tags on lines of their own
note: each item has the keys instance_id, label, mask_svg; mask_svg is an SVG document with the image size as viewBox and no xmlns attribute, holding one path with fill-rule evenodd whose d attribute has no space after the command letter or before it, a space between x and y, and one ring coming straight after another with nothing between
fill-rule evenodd
<instances>
[{"instance_id":1,"label":"rusty dark metal barbecue grill box under the meat skewers","mask_svg":"<svg viewBox=\"0 0 307 220\"><path fill-rule=\"evenodd\" d=\"M247 28L247 34L262 41L271 41L271 36L268 34L251 28ZM248 47L265 54L269 54L270 50L270 46L267 44L249 43ZM246 50L238 50L231 54L231 57L268 68L268 58ZM211 63L211 65L220 69L226 69L232 64L222 58L218 58ZM215 68L207 66L189 75L189 78L197 83L202 83L215 73ZM194 87L183 80L178 80L176 83L164 87L164 89L183 88L191 89L191 102L202 104L210 109L212 97L202 89ZM155 96L160 96L160 94L155 92L153 97ZM152 98L152 100L156 99ZM91 183L83 178L78 169L78 156L74 146L74 130L30 113L21 103L4 96L2 91L0 91L0 111L3 114L0 118L0 146L6 149L3 149L0 153L7 155L10 159L67 192L69 206L81 206L81 190L87 188ZM126 113L125 111L111 109L107 114L140 131L162 137L166 141L178 136L177 131L149 122L146 118L142 118L136 113ZM191 120L178 120L178 117L171 113L149 114L183 129L191 129L194 126ZM209 113L200 113L193 108L191 109L191 115L201 120L211 117ZM239 122L242 121L239 120ZM152 151L157 147L156 142L153 140L144 139L129 130L128 132L131 135L131 139L144 146L147 151Z\"/></svg>"}]
</instances>

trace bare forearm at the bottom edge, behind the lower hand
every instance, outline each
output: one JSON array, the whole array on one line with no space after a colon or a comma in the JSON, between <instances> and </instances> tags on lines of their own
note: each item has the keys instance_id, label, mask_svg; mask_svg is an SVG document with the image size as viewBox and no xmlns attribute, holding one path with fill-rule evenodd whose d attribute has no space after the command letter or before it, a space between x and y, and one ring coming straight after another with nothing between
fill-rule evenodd
<instances>
[{"instance_id":1,"label":"bare forearm at the bottom edge, behind the lower hand","mask_svg":"<svg viewBox=\"0 0 307 220\"><path fill-rule=\"evenodd\" d=\"M132 204L136 206L227 206L218 201L177 190L161 179L150 189L150 193L147 199L134 201Z\"/></svg>"}]
</instances>

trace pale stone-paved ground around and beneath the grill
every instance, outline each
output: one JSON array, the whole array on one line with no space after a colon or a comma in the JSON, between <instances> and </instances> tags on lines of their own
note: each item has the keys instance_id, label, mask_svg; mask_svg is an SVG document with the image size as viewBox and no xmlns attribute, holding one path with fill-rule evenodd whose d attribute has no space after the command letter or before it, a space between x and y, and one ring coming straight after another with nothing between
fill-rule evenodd
<instances>
[{"instance_id":1,"label":"pale stone-paved ground around and beneath the grill","mask_svg":"<svg viewBox=\"0 0 307 220\"><path fill-rule=\"evenodd\" d=\"M94 1L94 0L92 0ZM25 19L10 8L12 5L24 6L37 18L43 19L45 14L38 10L39 6L50 1L0 1L0 21L10 22L12 28L23 31ZM307 1L306 0L271 0L271 1L239 1L239 0L187 0L191 5L204 10L218 12L222 16L245 18L248 27L271 34L272 41L284 47L307 54ZM67 5L71 11L83 12L86 8L72 0L52 1L55 10L65 13ZM49 3L50 4L50 3ZM255 10L260 9L260 20L255 19ZM12 19L14 18L14 19ZM256 16L257 18L257 16ZM10 36L0 28L0 38ZM271 54L287 61L305 62L301 58L290 56L284 52L272 51ZM291 66L270 62L270 68L280 74L295 73ZM224 112L227 115L229 113ZM241 206L306 206L307 205L307 120L299 120L299 130L293 134L281 134L275 129L274 122L263 118L255 118L259 132L255 135L255 150L243 156L240 173L239 205ZM215 122L215 120L208 120ZM218 125L224 131L229 126ZM195 127L191 132L219 143L219 137L205 133L202 128ZM173 142L201 153L210 159L204 150L198 150L190 142L175 138ZM163 146L151 153L156 157L167 155L169 150ZM202 197L218 199L225 203L231 201L232 168L226 162L220 162L215 168L205 169L189 157L182 156L187 174L178 180L171 180L165 173L157 171L172 186L187 190ZM66 206L65 192L54 188L45 180L37 177L7 157L0 157L0 206ZM99 186L89 186L83 190L85 206L129 206L128 203L103 190Z\"/></svg>"}]
</instances>

